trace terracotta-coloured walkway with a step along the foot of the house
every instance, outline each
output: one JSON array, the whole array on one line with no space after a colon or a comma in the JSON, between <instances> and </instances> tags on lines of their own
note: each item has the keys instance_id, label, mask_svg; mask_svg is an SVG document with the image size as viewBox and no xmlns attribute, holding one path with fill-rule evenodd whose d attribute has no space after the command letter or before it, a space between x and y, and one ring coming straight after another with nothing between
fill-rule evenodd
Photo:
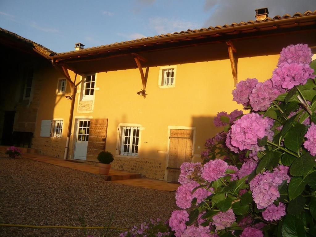
<instances>
[{"instance_id":1,"label":"terracotta-coloured walkway with a step along the foot of the house","mask_svg":"<svg viewBox=\"0 0 316 237\"><path fill-rule=\"evenodd\" d=\"M34 161L48 163L51 165L57 165L61 167L67 167L70 169L80 170L83 172L93 173L105 179L106 181L112 181L119 184L144 187L144 188L150 188L150 189L156 189L156 190L162 190L162 191L176 191L177 188L179 187L178 184L167 183L167 182L155 180L155 179L141 178L141 174L139 173L129 173L126 171L119 171L119 170L114 170L114 169L110 169L110 172L108 175L100 175L99 168L97 166L90 165L84 162L76 162L76 161L74 162L74 160L63 160L63 159L55 158L52 156L30 154L30 153L23 154L22 157L31 159Z\"/></svg>"}]
</instances>

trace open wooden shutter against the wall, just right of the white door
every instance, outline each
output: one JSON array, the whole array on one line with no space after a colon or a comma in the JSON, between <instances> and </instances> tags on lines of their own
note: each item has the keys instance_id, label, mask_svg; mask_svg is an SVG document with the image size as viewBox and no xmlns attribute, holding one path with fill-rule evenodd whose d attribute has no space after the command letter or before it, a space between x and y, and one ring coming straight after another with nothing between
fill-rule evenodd
<instances>
[{"instance_id":1,"label":"open wooden shutter against the wall, just right of the white door","mask_svg":"<svg viewBox=\"0 0 316 237\"><path fill-rule=\"evenodd\" d=\"M90 119L87 161L98 161L101 151L105 151L108 119Z\"/></svg>"}]
</instances>

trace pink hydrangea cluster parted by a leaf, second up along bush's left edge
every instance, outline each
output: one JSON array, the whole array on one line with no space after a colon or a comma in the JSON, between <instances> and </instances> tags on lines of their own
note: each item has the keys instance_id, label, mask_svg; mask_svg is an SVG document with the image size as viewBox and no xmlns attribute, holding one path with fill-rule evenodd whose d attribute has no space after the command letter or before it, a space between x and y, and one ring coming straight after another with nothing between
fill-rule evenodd
<instances>
[{"instance_id":1,"label":"pink hydrangea cluster parted by a leaf, second up along bush's left edge","mask_svg":"<svg viewBox=\"0 0 316 237\"><path fill-rule=\"evenodd\" d=\"M185 183L180 185L176 191L176 204L178 207L182 209L187 209L191 207L191 202L193 198L197 198L197 204L200 204L204 201L204 199L212 193L204 188L198 188L193 193L193 189L198 187L199 184L195 181L191 181L190 183Z\"/></svg>"}]
</instances>

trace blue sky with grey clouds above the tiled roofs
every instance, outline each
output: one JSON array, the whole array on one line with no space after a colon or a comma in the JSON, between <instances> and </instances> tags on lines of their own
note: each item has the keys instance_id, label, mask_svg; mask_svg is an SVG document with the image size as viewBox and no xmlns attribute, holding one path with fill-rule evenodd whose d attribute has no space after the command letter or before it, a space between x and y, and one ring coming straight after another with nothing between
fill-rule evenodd
<instances>
[{"instance_id":1,"label":"blue sky with grey clouds above the tiled roofs","mask_svg":"<svg viewBox=\"0 0 316 237\"><path fill-rule=\"evenodd\" d=\"M315 0L1 0L0 27L55 52L315 10Z\"/></svg>"}]
</instances>

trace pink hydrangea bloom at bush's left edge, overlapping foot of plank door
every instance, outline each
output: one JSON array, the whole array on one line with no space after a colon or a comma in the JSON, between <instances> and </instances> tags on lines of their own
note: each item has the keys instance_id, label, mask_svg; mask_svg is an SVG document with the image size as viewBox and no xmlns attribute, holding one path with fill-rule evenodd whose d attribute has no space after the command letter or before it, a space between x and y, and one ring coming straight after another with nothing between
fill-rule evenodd
<instances>
[{"instance_id":1,"label":"pink hydrangea bloom at bush's left edge, overlapping foot of plank door","mask_svg":"<svg viewBox=\"0 0 316 237\"><path fill-rule=\"evenodd\" d=\"M180 175L178 181L180 184L190 183L194 177L201 175L201 171L202 165L200 162L184 162L180 166Z\"/></svg>"}]
</instances>

